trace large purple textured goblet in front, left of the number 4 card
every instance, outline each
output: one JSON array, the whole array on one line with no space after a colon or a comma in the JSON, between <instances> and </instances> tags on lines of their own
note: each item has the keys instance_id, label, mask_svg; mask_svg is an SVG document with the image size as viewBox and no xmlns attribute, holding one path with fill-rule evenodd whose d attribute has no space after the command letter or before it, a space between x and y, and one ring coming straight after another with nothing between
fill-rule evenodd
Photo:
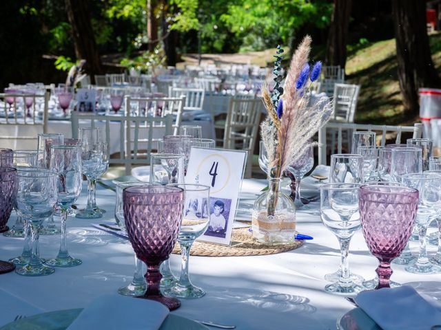
<instances>
[{"instance_id":1,"label":"large purple textured goblet in front, left of the number 4 card","mask_svg":"<svg viewBox=\"0 0 441 330\"><path fill-rule=\"evenodd\" d=\"M172 186L132 186L123 190L124 219L138 259L147 264L147 292L140 298L156 300L171 311L181 306L159 290L159 265L172 253L183 217L185 193Z\"/></svg>"}]
</instances>

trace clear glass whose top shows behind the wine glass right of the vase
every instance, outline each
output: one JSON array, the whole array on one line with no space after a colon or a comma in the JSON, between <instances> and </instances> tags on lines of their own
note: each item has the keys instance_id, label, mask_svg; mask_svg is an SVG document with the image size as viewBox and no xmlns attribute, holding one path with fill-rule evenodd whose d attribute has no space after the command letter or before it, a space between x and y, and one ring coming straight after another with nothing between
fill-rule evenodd
<instances>
[{"instance_id":1,"label":"clear glass whose top shows behind the wine glass right of the vase","mask_svg":"<svg viewBox=\"0 0 441 330\"><path fill-rule=\"evenodd\" d=\"M358 184L363 181L363 157L357 154L331 155L329 183Z\"/></svg>"}]
</instances>

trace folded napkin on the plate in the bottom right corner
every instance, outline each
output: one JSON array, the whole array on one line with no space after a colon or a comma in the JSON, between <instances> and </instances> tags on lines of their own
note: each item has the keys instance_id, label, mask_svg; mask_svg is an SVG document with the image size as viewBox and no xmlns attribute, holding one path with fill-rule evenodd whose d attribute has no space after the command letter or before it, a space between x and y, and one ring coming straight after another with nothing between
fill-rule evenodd
<instances>
[{"instance_id":1,"label":"folded napkin on the plate in the bottom right corner","mask_svg":"<svg viewBox=\"0 0 441 330\"><path fill-rule=\"evenodd\" d=\"M441 308L428 303L413 287L365 291L355 300L383 330L429 330L441 325Z\"/></svg>"}]
</instances>

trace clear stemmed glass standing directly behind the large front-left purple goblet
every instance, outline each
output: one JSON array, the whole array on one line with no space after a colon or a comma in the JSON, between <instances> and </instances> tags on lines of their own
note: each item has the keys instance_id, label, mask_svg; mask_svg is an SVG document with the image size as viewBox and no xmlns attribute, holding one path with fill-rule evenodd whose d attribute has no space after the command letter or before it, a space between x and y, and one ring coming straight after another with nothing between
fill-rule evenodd
<instances>
[{"instance_id":1,"label":"clear stemmed glass standing directly behind the large front-left purple goblet","mask_svg":"<svg viewBox=\"0 0 441 330\"><path fill-rule=\"evenodd\" d=\"M171 153L152 153L150 156L150 184L183 184L184 156ZM161 264L161 288L167 289L176 283L170 261Z\"/></svg>"}]
</instances>

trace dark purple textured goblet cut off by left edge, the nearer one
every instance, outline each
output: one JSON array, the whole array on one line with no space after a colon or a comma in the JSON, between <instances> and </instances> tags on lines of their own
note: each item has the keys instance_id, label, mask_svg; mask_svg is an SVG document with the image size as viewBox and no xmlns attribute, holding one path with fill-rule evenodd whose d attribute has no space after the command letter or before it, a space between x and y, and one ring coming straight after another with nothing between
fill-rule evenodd
<instances>
[{"instance_id":1,"label":"dark purple textured goblet cut off by left edge, the nearer one","mask_svg":"<svg viewBox=\"0 0 441 330\"><path fill-rule=\"evenodd\" d=\"M16 173L16 168L0 167L0 232L9 230L6 223L8 223L17 196Z\"/></svg>"}]
</instances>

